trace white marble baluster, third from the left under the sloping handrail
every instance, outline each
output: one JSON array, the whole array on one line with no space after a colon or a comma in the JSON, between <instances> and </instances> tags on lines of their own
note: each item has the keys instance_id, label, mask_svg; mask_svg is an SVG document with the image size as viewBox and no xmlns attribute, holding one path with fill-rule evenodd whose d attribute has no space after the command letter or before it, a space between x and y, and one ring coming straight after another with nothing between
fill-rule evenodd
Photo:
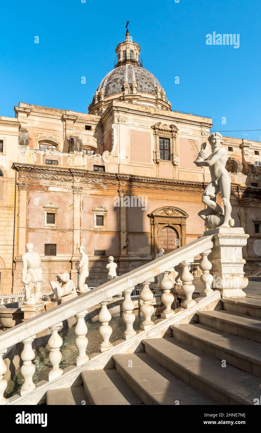
<instances>
[{"instance_id":1,"label":"white marble baluster, third from the left under the sloping handrail","mask_svg":"<svg viewBox=\"0 0 261 433\"><path fill-rule=\"evenodd\" d=\"M50 326L49 328L52 331L52 335L48 340L48 346L50 348L49 360L52 364L52 370L49 371L48 375L49 381L61 376L63 373L62 368L59 367L62 359L62 353L60 352L60 347L62 346L62 338L59 336L58 330L61 326L62 322Z\"/></svg>"}]
</instances>

